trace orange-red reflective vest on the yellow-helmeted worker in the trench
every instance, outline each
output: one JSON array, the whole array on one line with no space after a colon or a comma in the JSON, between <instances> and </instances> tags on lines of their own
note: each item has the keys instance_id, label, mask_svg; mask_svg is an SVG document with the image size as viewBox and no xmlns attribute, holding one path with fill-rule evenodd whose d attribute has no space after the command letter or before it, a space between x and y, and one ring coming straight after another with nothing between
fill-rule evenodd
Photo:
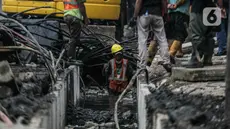
<instances>
[{"instance_id":1,"label":"orange-red reflective vest on the yellow-helmeted worker in the trench","mask_svg":"<svg viewBox=\"0 0 230 129\"><path fill-rule=\"evenodd\" d=\"M122 59L122 67L120 74L117 73L117 66L115 59L110 60L111 75L109 77L109 88L116 92L122 92L128 85L128 78L126 77L128 60Z\"/></svg>"}]
</instances>

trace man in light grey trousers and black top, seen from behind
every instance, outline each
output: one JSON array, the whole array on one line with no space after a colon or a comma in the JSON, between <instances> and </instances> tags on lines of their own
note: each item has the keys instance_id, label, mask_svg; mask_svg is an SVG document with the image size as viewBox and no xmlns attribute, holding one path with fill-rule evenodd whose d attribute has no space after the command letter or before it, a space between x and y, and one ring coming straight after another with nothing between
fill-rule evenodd
<instances>
[{"instance_id":1,"label":"man in light grey trousers and black top, seen from behind","mask_svg":"<svg viewBox=\"0 0 230 129\"><path fill-rule=\"evenodd\" d=\"M163 58L162 65L168 72L171 72L172 65L162 17L163 7L164 2L162 0L136 0L134 16L131 22L137 21L139 67L145 67L147 64L147 39L152 29L160 46L160 54Z\"/></svg>"}]
</instances>

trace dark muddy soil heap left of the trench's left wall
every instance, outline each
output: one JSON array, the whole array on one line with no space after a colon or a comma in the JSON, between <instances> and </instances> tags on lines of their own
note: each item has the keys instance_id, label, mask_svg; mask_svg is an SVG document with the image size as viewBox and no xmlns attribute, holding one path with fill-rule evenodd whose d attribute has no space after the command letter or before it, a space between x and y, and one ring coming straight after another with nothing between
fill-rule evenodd
<instances>
[{"instance_id":1,"label":"dark muddy soil heap left of the trench's left wall","mask_svg":"<svg viewBox=\"0 0 230 129\"><path fill-rule=\"evenodd\" d=\"M26 70L23 67L18 67L17 69ZM31 72L30 70L28 70L28 72ZM31 80L27 78L18 79L20 80L20 84L18 83L16 86L18 92L14 95L11 94L10 96L8 95L1 98L0 103L7 110L9 118L13 120L13 122L16 122L19 117L22 117L23 123L29 124L31 118L38 110L47 109L47 106L44 105L50 104L52 96L46 96L46 89L49 89L49 82L42 82L41 80L46 80L49 76L46 76L46 71L43 72L43 75L38 75L34 72L33 79ZM16 78L17 74L19 73L15 74ZM22 73L20 73L20 75L21 74ZM12 92L11 88L8 90ZM0 94L4 94L5 91L0 90L0 92Z\"/></svg>"}]
</instances>

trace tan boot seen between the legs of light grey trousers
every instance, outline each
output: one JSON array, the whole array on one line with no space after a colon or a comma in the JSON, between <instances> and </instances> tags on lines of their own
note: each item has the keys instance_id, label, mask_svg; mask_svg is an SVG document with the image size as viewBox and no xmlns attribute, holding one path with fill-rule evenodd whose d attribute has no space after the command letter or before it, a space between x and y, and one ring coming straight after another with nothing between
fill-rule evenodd
<instances>
[{"instance_id":1,"label":"tan boot seen between the legs of light grey trousers","mask_svg":"<svg viewBox=\"0 0 230 129\"><path fill-rule=\"evenodd\" d=\"M147 66L151 66L156 53L157 53L157 42L155 40L152 40L148 48Z\"/></svg>"}]
</instances>

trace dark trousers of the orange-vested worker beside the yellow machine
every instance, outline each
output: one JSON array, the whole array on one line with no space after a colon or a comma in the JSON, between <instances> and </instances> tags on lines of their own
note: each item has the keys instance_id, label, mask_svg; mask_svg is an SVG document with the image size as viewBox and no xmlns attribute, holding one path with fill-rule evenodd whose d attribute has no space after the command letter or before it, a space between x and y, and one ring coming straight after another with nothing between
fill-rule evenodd
<instances>
[{"instance_id":1,"label":"dark trousers of the orange-vested worker beside the yellow machine","mask_svg":"<svg viewBox=\"0 0 230 129\"><path fill-rule=\"evenodd\" d=\"M67 15L64 17L64 21L66 22L69 31L70 31L70 39L69 43L66 46L67 57L69 59L76 59L76 47L77 44L80 44L80 34L81 34L81 20L77 17Z\"/></svg>"}]
</instances>

